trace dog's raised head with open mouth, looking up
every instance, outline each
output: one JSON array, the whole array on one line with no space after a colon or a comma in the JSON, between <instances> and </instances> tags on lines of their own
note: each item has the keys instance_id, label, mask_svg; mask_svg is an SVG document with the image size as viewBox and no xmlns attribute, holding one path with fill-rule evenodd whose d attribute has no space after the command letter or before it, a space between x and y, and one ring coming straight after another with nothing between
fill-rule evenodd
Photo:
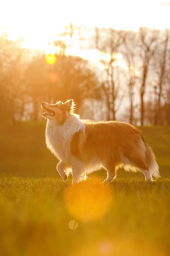
<instances>
[{"instance_id":1,"label":"dog's raised head with open mouth, looking up","mask_svg":"<svg viewBox=\"0 0 170 256\"><path fill-rule=\"evenodd\" d=\"M47 119L56 120L59 124L65 122L74 113L74 107L73 99L69 99L64 103L61 101L56 102L56 104L41 103L41 108L45 110L42 116Z\"/></svg>"}]
</instances>

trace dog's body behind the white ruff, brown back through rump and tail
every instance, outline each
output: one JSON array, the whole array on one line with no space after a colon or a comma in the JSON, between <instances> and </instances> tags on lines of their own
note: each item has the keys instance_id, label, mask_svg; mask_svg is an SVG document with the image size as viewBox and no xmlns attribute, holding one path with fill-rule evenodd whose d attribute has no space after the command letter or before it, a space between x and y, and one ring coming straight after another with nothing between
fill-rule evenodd
<instances>
[{"instance_id":1,"label":"dog's body behind the white ruff, brown back through rump and tail","mask_svg":"<svg viewBox=\"0 0 170 256\"><path fill-rule=\"evenodd\" d=\"M99 167L103 166L107 170L117 170L120 166L124 166L127 171L147 170L152 175L159 176L153 151L150 154L151 149L145 143L139 129L125 122L90 120L82 120L82 122L85 124L85 133L78 131L74 134L71 153L84 161L87 166L92 162L97 168L96 162L98 162ZM148 154L150 159L147 159ZM156 169L153 170L152 166Z\"/></svg>"}]
</instances>

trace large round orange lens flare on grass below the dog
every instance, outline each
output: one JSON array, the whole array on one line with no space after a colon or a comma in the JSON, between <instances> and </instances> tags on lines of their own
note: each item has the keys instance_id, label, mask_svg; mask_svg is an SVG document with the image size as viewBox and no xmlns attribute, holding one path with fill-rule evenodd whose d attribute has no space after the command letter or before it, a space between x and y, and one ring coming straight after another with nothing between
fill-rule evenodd
<instances>
[{"instance_id":1,"label":"large round orange lens flare on grass below the dog","mask_svg":"<svg viewBox=\"0 0 170 256\"><path fill-rule=\"evenodd\" d=\"M110 209L112 193L110 186L99 182L81 182L66 189L65 206L80 221L97 221Z\"/></svg>"}]
</instances>

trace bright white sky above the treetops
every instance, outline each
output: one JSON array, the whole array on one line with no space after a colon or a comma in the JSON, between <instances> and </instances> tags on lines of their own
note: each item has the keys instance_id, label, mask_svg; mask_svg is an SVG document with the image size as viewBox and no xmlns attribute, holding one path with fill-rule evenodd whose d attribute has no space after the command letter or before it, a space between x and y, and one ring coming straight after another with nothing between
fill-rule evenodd
<instances>
[{"instance_id":1,"label":"bright white sky above the treetops","mask_svg":"<svg viewBox=\"0 0 170 256\"><path fill-rule=\"evenodd\" d=\"M75 26L137 30L170 27L170 6L163 0L1 0L0 28L29 48L44 49L69 21Z\"/></svg>"}]
</instances>

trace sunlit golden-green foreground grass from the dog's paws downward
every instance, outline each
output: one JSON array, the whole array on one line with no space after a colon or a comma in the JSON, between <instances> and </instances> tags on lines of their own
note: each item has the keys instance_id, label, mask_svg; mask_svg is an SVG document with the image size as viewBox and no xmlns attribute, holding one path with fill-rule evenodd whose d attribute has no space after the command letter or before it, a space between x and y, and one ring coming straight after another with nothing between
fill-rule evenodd
<instances>
[{"instance_id":1,"label":"sunlit golden-green foreground grass from the dog's paws downward","mask_svg":"<svg viewBox=\"0 0 170 256\"><path fill-rule=\"evenodd\" d=\"M70 184L1 177L0 256L170 255L168 179Z\"/></svg>"}]
</instances>

